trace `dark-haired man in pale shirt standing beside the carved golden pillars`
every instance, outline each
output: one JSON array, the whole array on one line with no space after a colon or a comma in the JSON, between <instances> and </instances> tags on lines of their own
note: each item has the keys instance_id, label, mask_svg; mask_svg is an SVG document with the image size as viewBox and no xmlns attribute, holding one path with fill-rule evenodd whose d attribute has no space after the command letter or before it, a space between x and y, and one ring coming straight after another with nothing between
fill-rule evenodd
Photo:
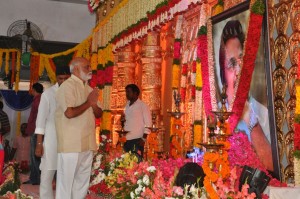
<instances>
[{"instance_id":1,"label":"dark-haired man in pale shirt standing beside the carved golden pillars","mask_svg":"<svg viewBox=\"0 0 300 199\"><path fill-rule=\"evenodd\" d=\"M125 89L128 102L124 111L126 120L124 130L129 132L126 134L124 151L140 150L143 156L145 140L150 133L146 127L152 126L151 112L149 106L139 99L140 89L137 85L129 84Z\"/></svg>"}]
</instances>

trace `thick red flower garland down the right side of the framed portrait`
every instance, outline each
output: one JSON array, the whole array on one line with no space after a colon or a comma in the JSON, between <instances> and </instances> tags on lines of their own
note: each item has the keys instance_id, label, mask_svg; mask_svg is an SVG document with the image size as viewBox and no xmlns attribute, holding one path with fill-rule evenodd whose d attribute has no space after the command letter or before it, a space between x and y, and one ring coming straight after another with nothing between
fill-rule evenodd
<instances>
[{"instance_id":1,"label":"thick red flower garland down the right side of the framed portrait","mask_svg":"<svg viewBox=\"0 0 300 199\"><path fill-rule=\"evenodd\" d=\"M241 71L240 84L236 92L236 96L238 96L238 98L236 98L233 103L232 112L234 114L229 118L231 131L234 131L234 128L238 124L238 121L243 113L245 102L248 98L248 92L251 84L249 77L252 77L255 66L255 59L261 35L262 20L262 15L250 13L247 42L243 57L243 68ZM203 75L203 77L205 76ZM203 91L203 93L205 92Z\"/></svg>"}]
</instances>

